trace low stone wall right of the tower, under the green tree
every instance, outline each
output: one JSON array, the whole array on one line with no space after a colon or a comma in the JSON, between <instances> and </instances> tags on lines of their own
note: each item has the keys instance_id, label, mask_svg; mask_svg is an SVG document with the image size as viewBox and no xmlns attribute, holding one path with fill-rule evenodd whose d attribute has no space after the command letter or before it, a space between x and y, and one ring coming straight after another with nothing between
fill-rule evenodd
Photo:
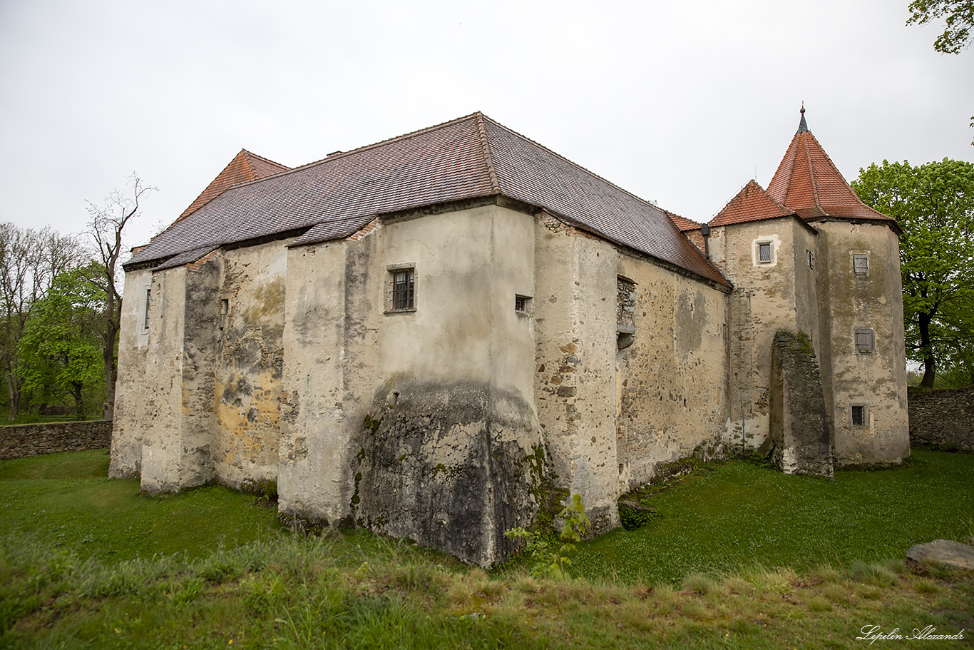
<instances>
[{"instance_id":1,"label":"low stone wall right of the tower, under the green tree","mask_svg":"<svg viewBox=\"0 0 974 650\"><path fill-rule=\"evenodd\" d=\"M910 441L974 451L974 387L910 389Z\"/></svg>"}]
</instances>

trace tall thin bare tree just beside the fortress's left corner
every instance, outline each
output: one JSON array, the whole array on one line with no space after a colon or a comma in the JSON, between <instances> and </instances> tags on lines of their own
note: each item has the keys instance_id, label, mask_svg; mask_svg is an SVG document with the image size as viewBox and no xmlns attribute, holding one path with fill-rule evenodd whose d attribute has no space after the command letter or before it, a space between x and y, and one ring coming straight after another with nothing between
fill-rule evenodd
<instances>
[{"instance_id":1,"label":"tall thin bare tree just beside the fortress's left corner","mask_svg":"<svg viewBox=\"0 0 974 650\"><path fill-rule=\"evenodd\" d=\"M105 327L102 335L102 361L105 364L105 419L111 420L115 410L115 379L118 376L118 360L115 342L122 323L122 294L119 258L125 248L122 245L126 225L138 216L143 197L156 188L146 185L138 174L131 172L129 191L112 190L104 203L96 206L89 202L89 232L94 240L104 275L100 279L105 288Z\"/></svg>"}]
</instances>

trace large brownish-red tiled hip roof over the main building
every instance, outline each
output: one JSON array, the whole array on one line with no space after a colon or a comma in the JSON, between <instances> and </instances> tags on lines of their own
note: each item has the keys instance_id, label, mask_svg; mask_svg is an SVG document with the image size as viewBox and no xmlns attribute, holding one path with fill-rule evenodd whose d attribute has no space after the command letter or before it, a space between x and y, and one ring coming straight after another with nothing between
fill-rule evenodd
<instances>
[{"instance_id":1,"label":"large brownish-red tiled hip roof over the main building","mask_svg":"<svg viewBox=\"0 0 974 650\"><path fill-rule=\"evenodd\" d=\"M303 228L293 245L339 239L378 214L496 195L730 286L664 210L480 113L226 189L127 266Z\"/></svg>"}]
</instances>

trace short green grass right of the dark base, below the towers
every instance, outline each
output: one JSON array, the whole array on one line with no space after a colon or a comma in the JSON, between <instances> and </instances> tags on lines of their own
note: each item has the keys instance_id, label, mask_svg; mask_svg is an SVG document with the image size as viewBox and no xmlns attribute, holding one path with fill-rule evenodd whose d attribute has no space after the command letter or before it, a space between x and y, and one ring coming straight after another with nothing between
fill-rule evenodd
<instances>
[{"instance_id":1,"label":"short green grass right of the dark base, below the towers","mask_svg":"<svg viewBox=\"0 0 974 650\"><path fill-rule=\"evenodd\" d=\"M848 566L914 544L974 535L974 454L914 449L907 467L840 471L835 481L741 461L704 465L657 493L659 518L581 547L581 575L679 584L690 573Z\"/></svg>"}]
</instances>

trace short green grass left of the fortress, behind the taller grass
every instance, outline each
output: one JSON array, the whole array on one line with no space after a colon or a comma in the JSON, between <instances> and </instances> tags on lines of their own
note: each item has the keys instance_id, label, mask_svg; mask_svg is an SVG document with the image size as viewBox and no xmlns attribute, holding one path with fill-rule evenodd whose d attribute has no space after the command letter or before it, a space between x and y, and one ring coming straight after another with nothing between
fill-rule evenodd
<instances>
[{"instance_id":1,"label":"short green grass left of the fortress, behind the taller grass","mask_svg":"<svg viewBox=\"0 0 974 650\"><path fill-rule=\"evenodd\" d=\"M254 497L206 486L165 497L138 493L135 479L108 476L105 450L0 462L0 530L37 536L81 557L203 556L280 528Z\"/></svg>"}]
</instances>

